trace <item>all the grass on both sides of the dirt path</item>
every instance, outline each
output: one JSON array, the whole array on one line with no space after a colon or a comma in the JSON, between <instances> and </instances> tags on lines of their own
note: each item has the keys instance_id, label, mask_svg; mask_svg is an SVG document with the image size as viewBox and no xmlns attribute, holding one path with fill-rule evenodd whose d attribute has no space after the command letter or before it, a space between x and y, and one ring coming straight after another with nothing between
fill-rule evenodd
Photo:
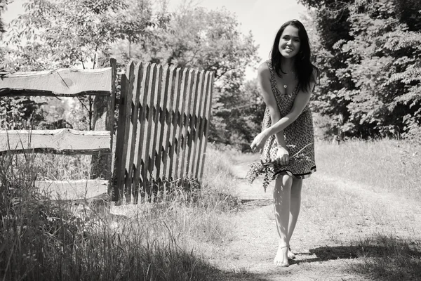
<instances>
[{"instance_id":1,"label":"all the grass on both sides of the dirt path","mask_svg":"<svg viewBox=\"0 0 421 281\"><path fill-rule=\"evenodd\" d=\"M298 222L298 233L314 229L302 238L314 261L323 266L343 260L344 270L361 280L421 276L421 240L415 232L420 228L408 226L397 204L420 206L418 155L419 147L398 141L316 144L317 174L326 178L306 181ZM238 235L247 235L232 222L248 210L236 198L239 181L232 166L255 155L210 147L200 191L177 188L171 200L114 207L111 213L89 204L55 204L33 193L35 177L87 178L90 158L72 159L0 157L0 279L225 280L232 273L220 269L229 259L221 253L229 253ZM370 200L370 192L392 203ZM303 259L298 272L315 275L320 267L312 261ZM243 280L246 271L235 280Z\"/></svg>"}]
</instances>

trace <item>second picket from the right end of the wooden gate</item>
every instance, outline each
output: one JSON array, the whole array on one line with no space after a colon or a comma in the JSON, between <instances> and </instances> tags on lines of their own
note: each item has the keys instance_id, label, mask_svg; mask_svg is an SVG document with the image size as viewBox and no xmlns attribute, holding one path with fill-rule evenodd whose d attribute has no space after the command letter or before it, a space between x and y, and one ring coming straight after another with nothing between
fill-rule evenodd
<instances>
[{"instance_id":1,"label":"second picket from the right end of the wooden gate","mask_svg":"<svg viewBox=\"0 0 421 281\"><path fill-rule=\"evenodd\" d=\"M197 96L198 100L196 102L196 110L194 111L194 122L192 124L192 148L189 151L192 151L192 156L189 157L190 161L190 169L187 169L187 174L189 174L190 177L194 178L196 175L196 166L197 161L200 159L200 150L199 150L199 129L200 129L200 116L201 112L203 112L203 100L205 100L204 96L206 94L206 79L205 79L205 70L201 70L199 74L199 87L197 90Z\"/></svg>"}]
</instances>

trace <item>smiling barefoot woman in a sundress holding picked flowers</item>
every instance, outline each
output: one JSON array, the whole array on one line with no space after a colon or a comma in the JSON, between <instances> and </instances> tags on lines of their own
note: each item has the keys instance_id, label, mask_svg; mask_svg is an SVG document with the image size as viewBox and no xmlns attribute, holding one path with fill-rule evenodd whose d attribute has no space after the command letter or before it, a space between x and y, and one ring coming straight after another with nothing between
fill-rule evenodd
<instances>
[{"instance_id":1,"label":"smiling barefoot woman in a sundress holding picked flowers","mask_svg":"<svg viewBox=\"0 0 421 281\"><path fill-rule=\"evenodd\" d=\"M275 180L274 211L280 239L274 263L278 266L289 266L288 258L294 258L289 242L300 214L302 179L316 171L308 103L319 70L310 62L310 55L305 27L290 20L276 34L271 59L258 68L267 108L262 132L251 148L260 150L260 160L265 166L270 164L266 172Z\"/></svg>"}]
</instances>

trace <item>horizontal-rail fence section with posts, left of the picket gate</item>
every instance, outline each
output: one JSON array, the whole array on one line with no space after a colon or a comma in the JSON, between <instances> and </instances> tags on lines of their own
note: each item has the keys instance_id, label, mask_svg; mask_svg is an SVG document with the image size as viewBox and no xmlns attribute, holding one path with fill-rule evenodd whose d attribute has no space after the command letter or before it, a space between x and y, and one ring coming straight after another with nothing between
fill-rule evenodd
<instances>
[{"instance_id":1,"label":"horizontal-rail fence section with posts, left of the picket gate","mask_svg":"<svg viewBox=\"0 0 421 281\"><path fill-rule=\"evenodd\" d=\"M36 186L41 191L51 192L52 197L76 200L95 197L95 195L112 190L110 180L112 177L111 154L114 135L116 61L109 60L108 64L110 67L98 70L20 72L7 74L0 78L0 97L95 96L95 124L97 129L103 131L0 130L0 153L29 151L65 155L106 155L107 161L102 164L103 179L36 181ZM105 100L102 106L100 106L100 100ZM101 157L99 158L101 159Z\"/></svg>"}]
</instances>

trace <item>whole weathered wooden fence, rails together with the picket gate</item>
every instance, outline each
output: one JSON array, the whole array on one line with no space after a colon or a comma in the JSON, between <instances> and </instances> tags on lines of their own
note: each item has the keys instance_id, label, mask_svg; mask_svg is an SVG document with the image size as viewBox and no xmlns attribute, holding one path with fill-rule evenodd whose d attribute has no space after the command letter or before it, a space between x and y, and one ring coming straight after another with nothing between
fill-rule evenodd
<instances>
[{"instance_id":1,"label":"whole weathered wooden fence, rails together with the picket gate","mask_svg":"<svg viewBox=\"0 0 421 281\"><path fill-rule=\"evenodd\" d=\"M113 201L138 202L152 186L180 178L200 181L206 153L213 72L128 64L121 77L116 151L112 166L116 62L98 70L22 72L0 78L1 96L93 95L93 129L0 131L0 153L93 155L92 180L38 181L62 199L103 192ZM100 156L98 156L100 154ZM105 178L99 180L98 178Z\"/></svg>"}]
</instances>

